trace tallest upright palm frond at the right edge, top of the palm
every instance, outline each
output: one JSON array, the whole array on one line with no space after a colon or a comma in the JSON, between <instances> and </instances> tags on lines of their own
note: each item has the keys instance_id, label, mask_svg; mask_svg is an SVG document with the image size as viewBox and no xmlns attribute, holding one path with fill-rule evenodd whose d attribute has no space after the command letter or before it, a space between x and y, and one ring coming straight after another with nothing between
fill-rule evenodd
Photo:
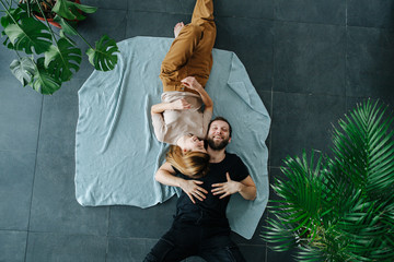
<instances>
[{"instance_id":1,"label":"tallest upright palm frond at the right edge, top of the palm","mask_svg":"<svg viewBox=\"0 0 394 262\"><path fill-rule=\"evenodd\" d=\"M352 184L373 195L387 192L394 183L394 118L384 118L387 108L370 100L359 105L347 121L339 121L341 131L334 133L335 164Z\"/></svg>"}]
</instances>

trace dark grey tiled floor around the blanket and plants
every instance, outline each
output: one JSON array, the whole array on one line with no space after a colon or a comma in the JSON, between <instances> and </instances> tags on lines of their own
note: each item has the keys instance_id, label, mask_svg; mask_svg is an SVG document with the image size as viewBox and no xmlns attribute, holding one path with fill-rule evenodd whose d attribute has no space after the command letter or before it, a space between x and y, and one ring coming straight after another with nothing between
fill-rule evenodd
<instances>
[{"instance_id":1,"label":"dark grey tiled floor around the blanket and plants","mask_svg":"<svg viewBox=\"0 0 394 262\"><path fill-rule=\"evenodd\" d=\"M83 0L92 44L172 36L194 0ZM394 0L216 0L216 47L234 51L273 117L270 180L287 155L327 151L332 123L367 97L394 108ZM0 47L0 261L141 261L170 227L175 200L148 210L82 207L74 199L81 70L53 96L22 88ZM267 212L260 221L265 224ZM251 262L293 261L259 238L234 235ZM201 261L188 259L187 261Z\"/></svg>"}]
</instances>

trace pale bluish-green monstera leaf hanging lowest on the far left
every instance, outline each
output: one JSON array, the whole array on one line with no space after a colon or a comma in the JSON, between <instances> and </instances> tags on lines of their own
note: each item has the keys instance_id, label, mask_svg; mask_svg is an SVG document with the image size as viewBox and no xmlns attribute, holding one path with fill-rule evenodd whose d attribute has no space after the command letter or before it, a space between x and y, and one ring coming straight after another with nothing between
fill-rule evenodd
<instances>
[{"instance_id":1,"label":"pale bluish-green monstera leaf hanging lowest on the far left","mask_svg":"<svg viewBox=\"0 0 394 262\"><path fill-rule=\"evenodd\" d=\"M23 57L13 60L10 64L10 69L12 74L15 75L23 86L26 86L33 80L36 66L31 58Z\"/></svg>"}]
</instances>

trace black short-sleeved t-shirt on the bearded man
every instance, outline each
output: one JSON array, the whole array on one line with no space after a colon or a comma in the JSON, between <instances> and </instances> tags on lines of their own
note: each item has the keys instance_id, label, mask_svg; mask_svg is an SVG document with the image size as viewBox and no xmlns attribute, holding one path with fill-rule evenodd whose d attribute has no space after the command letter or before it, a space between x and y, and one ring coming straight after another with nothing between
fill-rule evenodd
<instances>
[{"instance_id":1,"label":"black short-sleeved t-shirt on the bearded man","mask_svg":"<svg viewBox=\"0 0 394 262\"><path fill-rule=\"evenodd\" d=\"M192 179L176 169L175 171L177 176L184 179ZM242 181L248 176L247 168L241 158L234 154L225 153L225 158L222 162L210 164L209 171L205 177L194 179L202 181L204 183L199 187L208 191L204 201L195 199L196 204L194 204L188 195L182 191L176 203L175 221L196 225L229 227L225 209L230 196L219 199L220 194L213 195L211 192L213 183L227 182L227 172L229 172L231 180L235 181Z\"/></svg>"}]
</instances>

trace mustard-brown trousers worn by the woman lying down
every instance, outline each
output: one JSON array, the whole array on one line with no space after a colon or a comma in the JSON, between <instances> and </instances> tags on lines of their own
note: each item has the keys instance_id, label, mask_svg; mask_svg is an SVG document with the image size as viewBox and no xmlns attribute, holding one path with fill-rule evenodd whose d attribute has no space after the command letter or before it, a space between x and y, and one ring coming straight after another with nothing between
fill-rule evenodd
<instances>
[{"instance_id":1,"label":"mustard-brown trousers worn by the woman lying down","mask_svg":"<svg viewBox=\"0 0 394 262\"><path fill-rule=\"evenodd\" d=\"M192 23L185 25L165 56L160 79L163 92L187 91L181 80L194 76L204 87L212 68L212 48L216 39L212 0L197 0Z\"/></svg>"}]
</instances>

